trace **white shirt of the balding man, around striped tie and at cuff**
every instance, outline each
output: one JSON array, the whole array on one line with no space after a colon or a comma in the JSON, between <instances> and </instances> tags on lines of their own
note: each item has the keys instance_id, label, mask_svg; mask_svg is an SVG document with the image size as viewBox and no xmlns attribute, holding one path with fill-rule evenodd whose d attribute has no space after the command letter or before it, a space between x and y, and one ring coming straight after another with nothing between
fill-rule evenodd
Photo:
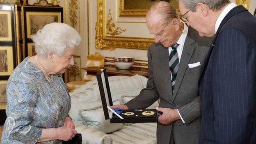
<instances>
[{"instance_id":1,"label":"white shirt of the balding man, around striped tie and at cuff","mask_svg":"<svg viewBox=\"0 0 256 144\"><path fill-rule=\"evenodd\" d=\"M187 37L187 32L188 32L188 27L187 25L185 25L185 23L183 23L184 25L184 29L183 29L183 32L181 34L181 37L178 39L177 41L177 44L179 44L178 48L176 49L177 50L177 53L178 53L178 59L179 59L179 63L181 62L181 55L182 55L182 51L183 51L183 47L184 47L184 43L185 43L185 40L186 40L186 37ZM168 48L169 50L169 55L171 53L171 46ZM171 71L170 71L171 73ZM171 75L171 78L172 78L172 75ZM180 112L178 111L178 114L180 115L181 117L181 114ZM183 120L183 118L181 117L181 120L183 123L185 123L185 121Z\"/></svg>"}]
</instances>

